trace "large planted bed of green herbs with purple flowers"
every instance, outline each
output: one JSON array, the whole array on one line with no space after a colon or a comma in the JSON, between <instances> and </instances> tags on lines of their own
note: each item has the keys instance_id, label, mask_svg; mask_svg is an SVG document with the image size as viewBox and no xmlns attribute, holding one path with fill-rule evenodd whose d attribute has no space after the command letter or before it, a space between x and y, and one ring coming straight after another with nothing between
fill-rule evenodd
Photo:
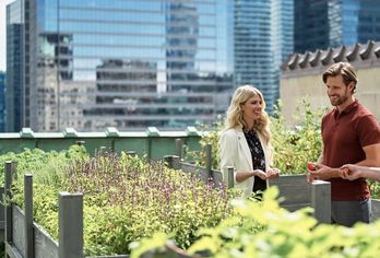
<instances>
[{"instance_id":1,"label":"large planted bed of green herbs with purple flowers","mask_svg":"<svg viewBox=\"0 0 380 258\"><path fill-rule=\"evenodd\" d=\"M13 201L23 206L23 176L34 175L34 216L58 237L59 191L84 194L85 254L128 254L129 244L155 232L170 235L182 248L197 231L215 226L231 212L226 189L213 189L191 174L138 156L106 153L95 157L66 152L29 151L17 154L21 167ZM32 153L32 154L31 154Z\"/></svg>"}]
</instances>

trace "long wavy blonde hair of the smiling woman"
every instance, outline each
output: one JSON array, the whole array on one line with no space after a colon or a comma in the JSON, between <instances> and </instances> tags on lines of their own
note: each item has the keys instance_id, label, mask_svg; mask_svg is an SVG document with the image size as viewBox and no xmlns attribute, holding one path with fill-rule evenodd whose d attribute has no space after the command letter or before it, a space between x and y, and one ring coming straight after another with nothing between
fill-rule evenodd
<instances>
[{"instance_id":1,"label":"long wavy blonde hair of the smiling woman","mask_svg":"<svg viewBox=\"0 0 380 258\"><path fill-rule=\"evenodd\" d=\"M242 118L241 106L252 96L259 96L262 102L261 117L254 121L253 129L257 130L264 139L265 143L270 145L271 143L271 130L270 130L270 119L265 109L265 101L262 93L251 85L239 86L230 101L225 120L225 130L230 128L246 128L247 124Z\"/></svg>"}]
</instances>

